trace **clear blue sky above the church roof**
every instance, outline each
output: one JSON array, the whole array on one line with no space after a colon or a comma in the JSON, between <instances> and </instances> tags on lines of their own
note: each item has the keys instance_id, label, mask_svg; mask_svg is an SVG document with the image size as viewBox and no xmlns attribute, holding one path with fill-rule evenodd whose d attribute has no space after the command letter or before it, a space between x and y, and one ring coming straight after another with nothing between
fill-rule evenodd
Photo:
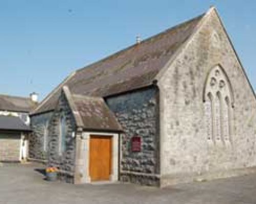
<instances>
[{"instance_id":1,"label":"clear blue sky above the church roof","mask_svg":"<svg viewBox=\"0 0 256 204\"><path fill-rule=\"evenodd\" d=\"M217 7L255 90L256 1L1 0L0 93L45 97L69 73Z\"/></svg>"}]
</instances>

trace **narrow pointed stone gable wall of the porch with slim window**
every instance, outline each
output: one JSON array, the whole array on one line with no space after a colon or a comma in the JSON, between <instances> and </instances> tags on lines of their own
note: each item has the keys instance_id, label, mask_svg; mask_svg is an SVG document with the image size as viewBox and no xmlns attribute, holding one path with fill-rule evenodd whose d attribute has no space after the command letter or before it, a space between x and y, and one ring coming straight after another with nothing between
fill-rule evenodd
<instances>
[{"instance_id":1,"label":"narrow pointed stone gable wall of the porch with slim window","mask_svg":"<svg viewBox=\"0 0 256 204\"><path fill-rule=\"evenodd\" d=\"M66 120L66 150L59 155L59 121L61 115ZM72 137L72 132L75 131L75 128L75 119L65 95L62 93L49 123L48 166L58 167L60 179L68 183L74 182L75 138Z\"/></svg>"}]
</instances>

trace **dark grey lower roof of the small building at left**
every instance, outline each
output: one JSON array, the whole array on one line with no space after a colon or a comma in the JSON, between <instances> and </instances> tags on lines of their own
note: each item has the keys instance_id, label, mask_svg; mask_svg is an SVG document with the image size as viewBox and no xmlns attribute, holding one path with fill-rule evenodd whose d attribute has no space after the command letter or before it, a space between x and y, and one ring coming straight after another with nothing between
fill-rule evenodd
<instances>
[{"instance_id":1,"label":"dark grey lower roof of the small building at left","mask_svg":"<svg viewBox=\"0 0 256 204\"><path fill-rule=\"evenodd\" d=\"M31 131L19 117L14 116L0 116L0 130Z\"/></svg>"}]
</instances>

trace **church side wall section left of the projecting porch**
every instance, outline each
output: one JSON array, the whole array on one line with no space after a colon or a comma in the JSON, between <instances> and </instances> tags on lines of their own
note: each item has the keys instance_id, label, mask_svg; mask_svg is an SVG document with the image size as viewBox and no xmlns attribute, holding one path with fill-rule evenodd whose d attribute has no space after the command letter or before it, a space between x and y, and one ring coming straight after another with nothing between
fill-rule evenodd
<instances>
[{"instance_id":1,"label":"church side wall section left of the projecting porch","mask_svg":"<svg viewBox=\"0 0 256 204\"><path fill-rule=\"evenodd\" d=\"M38 160L47 159L47 151L44 149L44 135L51 117L52 112L31 116L30 125L33 132L29 137L29 158Z\"/></svg>"}]
</instances>

